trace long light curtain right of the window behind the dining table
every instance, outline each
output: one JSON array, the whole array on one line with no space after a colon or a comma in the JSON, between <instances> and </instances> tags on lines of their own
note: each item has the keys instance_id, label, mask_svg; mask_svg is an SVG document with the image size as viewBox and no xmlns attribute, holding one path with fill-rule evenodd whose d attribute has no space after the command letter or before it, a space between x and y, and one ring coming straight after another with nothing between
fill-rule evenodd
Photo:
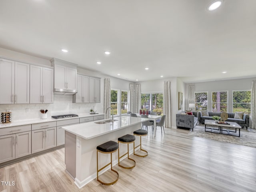
<instances>
[{"instance_id":1,"label":"long light curtain right of the window behind the dining table","mask_svg":"<svg viewBox=\"0 0 256 192\"><path fill-rule=\"evenodd\" d=\"M164 108L164 115L166 115L165 119L165 127L171 128L171 82L164 81L164 96L163 96L163 108Z\"/></svg>"}]
</instances>

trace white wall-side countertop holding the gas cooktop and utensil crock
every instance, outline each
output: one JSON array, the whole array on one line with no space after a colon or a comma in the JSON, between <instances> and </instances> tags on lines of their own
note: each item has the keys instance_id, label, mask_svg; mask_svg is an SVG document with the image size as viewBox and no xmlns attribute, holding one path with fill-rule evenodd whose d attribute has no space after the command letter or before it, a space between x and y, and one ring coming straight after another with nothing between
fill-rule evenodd
<instances>
[{"instance_id":1,"label":"white wall-side countertop holding the gas cooktop and utensil crock","mask_svg":"<svg viewBox=\"0 0 256 192\"><path fill-rule=\"evenodd\" d=\"M17 120L12 121L8 124L2 124L0 123L0 128L6 128L6 127L13 127L13 126L20 126L20 125L28 125L28 124L36 124L36 123L45 123L45 122L51 122L51 121L60 121L60 120L66 120L66 119L76 119L76 118L82 118L82 117L92 117L92 116L99 116L99 115L105 115L104 113L99 114L89 114L89 113L81 113L77 114L78 117L72 117L72 118L62 118L62 119L54 119L54 118L47 118L47 119L26 119L26 120Z\"/></svg>"}]
</instances>

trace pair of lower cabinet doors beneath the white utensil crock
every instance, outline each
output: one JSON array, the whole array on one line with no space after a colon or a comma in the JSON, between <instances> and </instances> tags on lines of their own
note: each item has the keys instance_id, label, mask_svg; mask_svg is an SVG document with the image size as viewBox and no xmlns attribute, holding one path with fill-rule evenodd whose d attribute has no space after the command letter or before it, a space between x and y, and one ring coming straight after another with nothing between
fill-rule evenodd
<instances>
[{"instance_id":1,"label":"pair of lower cabinet doors beneath the white utensil crock","mask_svg":"<svg viewBox=\"0 0 256 192\"><path fill-rule=\"evenodd\" d=\"M56 147L56 127L32 130L32 153Z\"/></svg>"}]
</instances>

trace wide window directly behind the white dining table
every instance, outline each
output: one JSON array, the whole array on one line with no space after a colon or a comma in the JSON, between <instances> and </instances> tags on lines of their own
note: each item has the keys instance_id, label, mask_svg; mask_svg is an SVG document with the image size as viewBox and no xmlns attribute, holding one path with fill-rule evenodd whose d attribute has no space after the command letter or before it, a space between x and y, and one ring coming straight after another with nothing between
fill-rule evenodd
<instances>
[{"instance_id":1,"label":"wide window directly behind the white dining table","mask_svg":"<svg viewBox=\"0 0 256 192\"><path fill-rule=\"evenodd\" d=\"M158 115L163 115L163 94L141 94L141 108L156 112Z\"/></svg>"}]
</instances>

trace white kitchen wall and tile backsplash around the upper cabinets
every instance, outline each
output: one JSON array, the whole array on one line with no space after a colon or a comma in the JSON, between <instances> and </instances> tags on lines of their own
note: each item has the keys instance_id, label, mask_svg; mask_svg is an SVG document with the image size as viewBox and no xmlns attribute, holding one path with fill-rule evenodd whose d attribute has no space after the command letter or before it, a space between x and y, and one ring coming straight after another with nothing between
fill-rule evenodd
<instances>
[{"instance_id":1,"label":"white kitchen wall and tile backsplash around the upper cabinets","mask_svg":"<svg viewBox=\"0 0 256 192\"><path fill-rule=\"evenodd\" d=\"M19 52L14 52L11 50L6 50L0 48L0 56L7 58L12 58L15 60L20 60L23 62L34 63L34 64L43 64L46 66L51 66L50 60L37 58L34 56L22 54ZM54 103L53 104L0 104L0 112L4 112L7 109L10 109L13 114L13 121L15 120L24 120L24 119L33 119L40 118L41 109L48 109L48 116L59 115L59 114L77 114L77 113L89 113L90 108L97 110L99 113L103 112L103 102L104 102L104 78L110 78L111 88L129 90L129 83L126 80L121 80L118 78L110 77L99 72L92 72L86 69L77 68L77 72L80 74L95 76L101 78L101 98L100 103L72 103L72 95L56 95L54 94ZM2 90L1 90L2 91ZM26 112L26 109L29 109Z\"/></svg>"}]
</instances>

